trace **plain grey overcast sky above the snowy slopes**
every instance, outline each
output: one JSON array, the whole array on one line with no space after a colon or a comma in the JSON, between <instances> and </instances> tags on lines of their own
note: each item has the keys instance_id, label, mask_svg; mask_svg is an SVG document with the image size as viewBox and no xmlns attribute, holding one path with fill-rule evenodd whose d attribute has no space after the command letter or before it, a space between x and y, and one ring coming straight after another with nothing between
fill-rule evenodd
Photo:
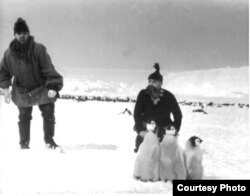
<instances>
[{"instance_id":1,"label":"plain grey overcast sky above the snowy slopes","mask_svg":"<svg viewBox=\"0 0 250 196\"><path fill-rule=\"evenodd\" d=\"M23 17L63 69L248 65L248 0L0 0L0 52Z\"/></svg>"}]
</instances>

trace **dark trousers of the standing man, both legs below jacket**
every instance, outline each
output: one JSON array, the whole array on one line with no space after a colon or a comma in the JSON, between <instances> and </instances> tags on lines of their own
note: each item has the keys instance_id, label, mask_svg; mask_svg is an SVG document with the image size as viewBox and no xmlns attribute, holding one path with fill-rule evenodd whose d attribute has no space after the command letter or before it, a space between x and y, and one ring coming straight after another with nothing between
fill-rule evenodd
<instances>
[{"instance_id":1,"label":"dark trousers of the standing man, both legs below jacket","mask_svg":"<svg viewBox=\"0 0 250 196\"><path fill-rule=\"evenodd\" d=\"M30 121L32 119L32 107L18 107L19 109L19 134L20 144L29 144L30 142ZM48 103L39 105L43 117L44 141L51 140L55 134L55 104Z\"/></svg>"}]
</instances>

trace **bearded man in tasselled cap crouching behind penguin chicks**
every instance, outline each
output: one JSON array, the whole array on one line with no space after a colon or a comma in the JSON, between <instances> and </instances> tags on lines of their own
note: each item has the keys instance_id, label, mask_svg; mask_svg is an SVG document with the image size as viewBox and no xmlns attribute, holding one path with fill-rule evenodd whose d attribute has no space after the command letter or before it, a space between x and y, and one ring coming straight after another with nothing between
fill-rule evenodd
<instances>
[{"instance_id":1,"label":"bearded man in tasselled cap crouching behind penguin chicks","mask_svg":"<svg viewBox=\"0 0 250 196\"><path fill-rule=\"evenodd\" d=\"M146 133L146 123L155 121L160 141L165 129L173 125L177 133L181 127L182 113L175 96L162 88L163 77L160 66L155 63L156 71L148 77L148 87L140 91L134 109L135 131L137 132L135 149L137 152ZM171 120L171 114L173 120ZM177 134L176 133L176 134Z\"/></svg>"}]
</instances>

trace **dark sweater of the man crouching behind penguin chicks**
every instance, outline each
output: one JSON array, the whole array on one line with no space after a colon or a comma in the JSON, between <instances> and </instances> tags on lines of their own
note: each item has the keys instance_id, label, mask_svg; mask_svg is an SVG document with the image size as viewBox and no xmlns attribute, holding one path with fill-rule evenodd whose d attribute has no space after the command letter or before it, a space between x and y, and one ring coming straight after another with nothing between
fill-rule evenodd
<instances>
[{"instance_id":1,"label":"dark sweater of the man crouching behind penguin chicks","mask_svg":"<svg viewBox=\"0 0 250 196\"><path fill-rule=\"evenodd\" d=\"M173 115L174 121L170 115ZM145 123L154 120L157 126L165 127L173 124L177 131L180 130L182 113L175 96L162 89L160 101L154 105L146 89L140 91L134 109L135 131L146 130Z\"/></svg>"}]
</instances>

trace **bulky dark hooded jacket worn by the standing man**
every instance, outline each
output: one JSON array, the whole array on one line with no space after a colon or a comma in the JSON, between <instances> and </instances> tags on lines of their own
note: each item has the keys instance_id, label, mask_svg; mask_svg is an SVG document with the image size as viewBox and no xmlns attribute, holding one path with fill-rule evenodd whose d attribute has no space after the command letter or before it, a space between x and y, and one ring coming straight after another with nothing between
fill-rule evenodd
<instances>
[{"instance_id":1,"label":"bulky dark hooded jacket worn by the standing man","mask_svg":"<svg viewBox=\"0 0 250 196\"><path fill-rule=\"evenodd\" d=\"M0 88L12 87L12 100L20 107L54 102L48 90L60 91L63 77L55 70L46 48L29 37L26 48L10 43L0 64Z\"/></svg>"}]
</instances>

